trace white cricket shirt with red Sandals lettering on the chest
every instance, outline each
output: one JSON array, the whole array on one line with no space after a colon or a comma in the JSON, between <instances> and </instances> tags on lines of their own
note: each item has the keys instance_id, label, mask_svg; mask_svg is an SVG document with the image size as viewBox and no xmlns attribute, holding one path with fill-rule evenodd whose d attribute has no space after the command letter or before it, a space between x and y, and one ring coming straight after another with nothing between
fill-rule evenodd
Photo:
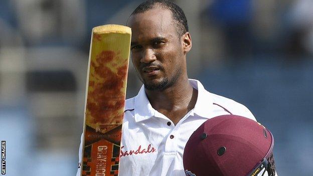
<instances>
[{"instance_id":1,"label":"white cricket shirt with red Sandals lettering on the chest","mask_svg":"<svg viewBox=\"0 0 313 176\"><path fill-rule=\"evenodd\" d=\"M198 90L197 102L194 109L182 117L177 125L152 108L143 86L137 96L126 100L119 176L185 175L184 148L191 134L202 123L209 118L226 114L255 120L244 105L208 92L198 80L189 81ZM79 173L80 168L77 176Z\"/></svg>"}]
</instances>

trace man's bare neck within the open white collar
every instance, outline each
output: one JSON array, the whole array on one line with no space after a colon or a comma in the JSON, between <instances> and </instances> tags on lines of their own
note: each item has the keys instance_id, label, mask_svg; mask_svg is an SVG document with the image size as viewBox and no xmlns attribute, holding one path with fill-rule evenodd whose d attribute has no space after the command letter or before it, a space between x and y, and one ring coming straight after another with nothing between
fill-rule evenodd
<instances>
[{"instance_id":1,"label":"man's bare neck within the open white collar","mask_svg":"<svg viewBox=\"0 0 313 176\"><path fill-rule=\"evenodd\" d=\"M151 106L177 124L191 109L195 107L198 91L192 87L188 77L178 80L163 91L146 90Z\"/></svg>"}]
</instances>

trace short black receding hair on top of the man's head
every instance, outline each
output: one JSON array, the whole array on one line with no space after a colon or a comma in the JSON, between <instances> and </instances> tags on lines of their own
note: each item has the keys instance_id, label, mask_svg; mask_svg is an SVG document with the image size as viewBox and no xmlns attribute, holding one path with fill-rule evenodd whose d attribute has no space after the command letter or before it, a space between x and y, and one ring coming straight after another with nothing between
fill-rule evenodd
<instances>
[{"instance_id":1,"label":"short black receding hair on top of the man's head","mask_svg":"<svg viewBox=\"0 0 313 176\"><path fill-rule=\"evenodd\" d=\"M176 22L177 34L179 36L188 32L187 18L184 11L177 4L166 0L149 0L141 3L130 16L138 13L144 13L155 7L162 7L172 12L173 20Z\"/></svg>"}]
</instances>

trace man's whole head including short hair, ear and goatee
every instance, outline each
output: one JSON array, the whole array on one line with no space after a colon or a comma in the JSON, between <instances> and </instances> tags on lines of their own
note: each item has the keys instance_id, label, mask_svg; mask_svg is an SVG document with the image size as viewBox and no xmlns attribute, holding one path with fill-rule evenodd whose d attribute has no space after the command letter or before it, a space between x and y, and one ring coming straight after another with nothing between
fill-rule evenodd
<instances>
[{"instance_id":1,"label":"man's whole head including short hair, ear and goatee","mask_svg":"<svg viewBox=\"0 0 313 176\"><path fill-rule=\"evenodd\" d=\"M147 1L131 14L131 58L147 90L162 91L187 78L191 49L184 12L172 2Z\"/></svg>"}]
</instances>

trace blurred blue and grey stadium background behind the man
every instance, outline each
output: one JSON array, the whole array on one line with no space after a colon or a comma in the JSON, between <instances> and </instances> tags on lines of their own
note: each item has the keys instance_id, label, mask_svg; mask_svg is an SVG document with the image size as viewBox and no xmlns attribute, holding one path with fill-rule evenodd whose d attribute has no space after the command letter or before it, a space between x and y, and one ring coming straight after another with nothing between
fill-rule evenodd
<instances>
[{"instance_id":1,"label":"blurred blue and grey stadium background behind the man","mask_svg":"<svg viewBox=\"0 0 313 176\"><path fill-rule=\"evenodd\" d=\"M91 29L142 1L0 1L0 138L7 175L75 175ZM274 134L279 175L313 173L313 1L175 1L189 76L245 104ZM127 97L140 81L130 64Z\"/></svg>"}]
</instances>

